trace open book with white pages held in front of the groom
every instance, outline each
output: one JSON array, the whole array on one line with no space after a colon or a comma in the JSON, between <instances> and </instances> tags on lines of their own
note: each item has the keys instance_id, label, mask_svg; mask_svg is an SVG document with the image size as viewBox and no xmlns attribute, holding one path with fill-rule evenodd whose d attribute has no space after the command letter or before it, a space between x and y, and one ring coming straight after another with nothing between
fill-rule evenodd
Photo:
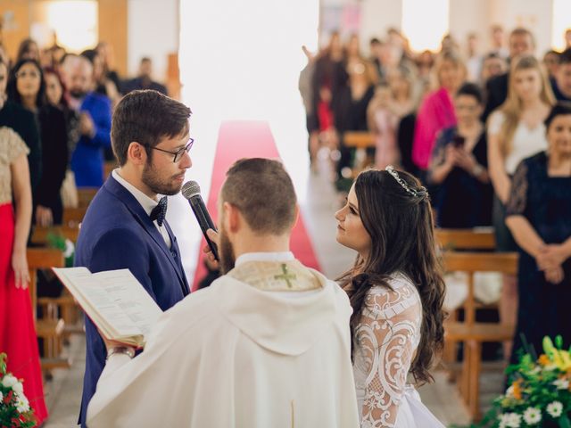
<instances>
[{"instance_id":1,"label":"open book with white pages held in front of the groom","mask_svg":"<svg viewBox=\"0 0 571 428\"><path fill-rule=\"evenodd\" d=\"M142 348L162 310L128 269L52 268L106 339Z\"/></svg>"}]
</instances>

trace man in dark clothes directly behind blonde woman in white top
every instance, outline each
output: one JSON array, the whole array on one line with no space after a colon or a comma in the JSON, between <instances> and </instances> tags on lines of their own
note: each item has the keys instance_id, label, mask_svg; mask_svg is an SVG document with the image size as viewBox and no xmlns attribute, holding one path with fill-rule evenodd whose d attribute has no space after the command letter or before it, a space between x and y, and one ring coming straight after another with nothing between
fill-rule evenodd
<instances>
[{"instance_id":1,"label":"man in dark clothes directly behind blonde woman in white top","mask_svg":"<svg viewBox=\"0 0 571 428\"><path fill-rule=\"evenodd\" d=\"M509 34L509 61L519 55L533 55L534 35L528 29L517 28ZM490 78L485 84L486 103L482 120L485 122L492 111L501 106L508 97L509 72Z\"/></svg>"}]
</instances>

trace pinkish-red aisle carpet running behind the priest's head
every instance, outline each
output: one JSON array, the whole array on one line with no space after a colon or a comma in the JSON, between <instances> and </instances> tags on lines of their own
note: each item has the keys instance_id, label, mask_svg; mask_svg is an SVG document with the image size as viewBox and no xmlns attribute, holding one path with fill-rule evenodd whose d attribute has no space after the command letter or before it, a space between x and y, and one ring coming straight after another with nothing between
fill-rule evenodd
<instances>
[{"instance_id":1,"label":"pinkish-red aisle carpet running behind the priest's head","mask_svg":"<svg viewBox=\"0 0 571 428\"><path fill-rule=\"evenodd\" d=\"M208 197L207 207L214 223L217 223L218 210L217 200L220 186L226 177L226 171L237 160L242 158L270 158L279 157L274 138L269 130L268 122L265 121L228 121L220 126L218 147L212 167L211 193ZM193 290L196 290L198 282L206 275L203 265L202 248L206 243L201 243L201 251L194 273ZM310 238L307 235L303 218L300 218L294 227L292 234L291 249L294 255L305 266L319 269L318 259L313 252Z\"/></svg>"}]
</instances>

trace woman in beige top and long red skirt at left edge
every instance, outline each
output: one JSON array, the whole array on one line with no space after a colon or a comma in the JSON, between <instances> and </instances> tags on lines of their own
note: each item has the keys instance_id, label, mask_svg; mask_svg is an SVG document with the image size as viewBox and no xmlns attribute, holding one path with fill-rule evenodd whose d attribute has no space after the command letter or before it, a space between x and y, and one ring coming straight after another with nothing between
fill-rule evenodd
<instances>
[{"instance_id":1,"label":"woman in beige top and long red skirt at left edge","mask_svg":"<svg viewBox=\"0 0 571 428\"><path fill-rule=\"evenodd\" d=\"M6 67L0 62L0 110L5 75ZM28 290L26 243L32 214L28 152L12 128L0 128L0 352L8 355L8 371L23 379L24 395L40 425L47 409Z\"/></svg>"}]
</instances>

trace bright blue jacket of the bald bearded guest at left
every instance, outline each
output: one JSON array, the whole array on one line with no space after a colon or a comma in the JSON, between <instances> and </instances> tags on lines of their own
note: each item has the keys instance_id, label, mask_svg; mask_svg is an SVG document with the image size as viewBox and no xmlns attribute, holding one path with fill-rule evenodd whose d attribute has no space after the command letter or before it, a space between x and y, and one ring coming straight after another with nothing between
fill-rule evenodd
<instances>
[{"instance_id":1,"label":"bright blue jacket of the bald bearded guest at left","mask_svg":"<svg viewBox=\"0 0 571 428\"><path fill-rule=\"evenodd\" d=\"M111 147L111 101L104 95L88 94L81 111L87 111L95 124L95 136L81 136L71 156L71 169L78 187L103 185L103 150Z\"/></svg>"}]
</instances>

